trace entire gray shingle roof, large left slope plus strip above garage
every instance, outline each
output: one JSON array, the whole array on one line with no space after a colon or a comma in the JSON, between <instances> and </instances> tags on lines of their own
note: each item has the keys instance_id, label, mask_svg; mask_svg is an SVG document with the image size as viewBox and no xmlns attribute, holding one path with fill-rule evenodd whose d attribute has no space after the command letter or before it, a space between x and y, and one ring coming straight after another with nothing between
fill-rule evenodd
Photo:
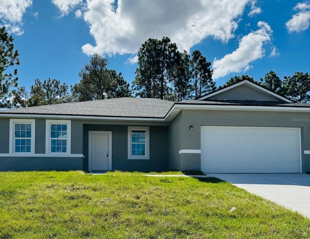
<instances>
[{"instance_id":1,"label":"entire gray shingle roof, large left slope plus strip above garage","mask_svg":"<svg viewBox=\"0 0 310 239\"><path fill-rule=\"evenodd\" d=\"M18 115L64 115L64 116L93 116L93 117L127 117L127 118L158 118L164 119L174 104L178 105L248 105L248 106L282 106L310 107L306 103L266 102L266 101L233 101L188 100L171 102L148 98L115 98L100 101L73 102L50 104L27 108L1 110L1 114Z\"/></svg>"}]
</instances>

